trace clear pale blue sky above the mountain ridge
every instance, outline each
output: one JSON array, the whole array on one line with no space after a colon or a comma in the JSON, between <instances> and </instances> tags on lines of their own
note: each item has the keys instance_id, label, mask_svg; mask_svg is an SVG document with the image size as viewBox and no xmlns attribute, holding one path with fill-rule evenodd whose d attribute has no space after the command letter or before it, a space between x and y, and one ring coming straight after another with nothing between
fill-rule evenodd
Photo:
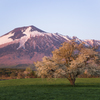
<instances>
[{"instance_id":1,"label":"clear pale blue sky above the mountain ridge","mask_svg":"<svg viewBox=\"0 0 100 100\"><path fill-rule=\"evenodd\" d=\"M100 0L0 0L0 36L29 25L100 40Z\"/></svg>"}]
</instances>

